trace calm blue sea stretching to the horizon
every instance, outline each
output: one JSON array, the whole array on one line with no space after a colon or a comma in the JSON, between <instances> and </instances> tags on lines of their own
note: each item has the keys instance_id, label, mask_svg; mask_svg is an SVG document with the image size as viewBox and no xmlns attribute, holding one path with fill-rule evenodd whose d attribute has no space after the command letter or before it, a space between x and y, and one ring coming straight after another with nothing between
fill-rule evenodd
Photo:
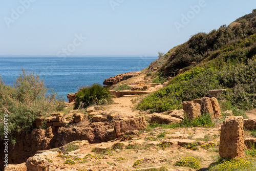
<instances>
[{"instance_id":1,"label":"calm blue sea stretching to the horizon","mask_svg":"<svg viewBox=\"0 0 256 171\"><path fill-rule=\"evenodd\" d=\"M0 57L0 76L5 84L13 85L22 69L44 79L66 101L68 93L83 86L102 84L104 79L148 67L157 56L94 56L94 57Z\"/></svg>"}]
</instances>

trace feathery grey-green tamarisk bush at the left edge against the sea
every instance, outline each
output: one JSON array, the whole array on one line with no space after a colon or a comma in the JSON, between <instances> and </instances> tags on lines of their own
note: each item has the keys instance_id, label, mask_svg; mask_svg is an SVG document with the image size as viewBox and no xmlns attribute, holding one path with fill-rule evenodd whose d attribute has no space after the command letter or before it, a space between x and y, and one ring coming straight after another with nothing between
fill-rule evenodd
<instances>
[{"instance_id":1,"label":"feathery grey-green tamarisk bush at the left edge against the sea","mask_svg":"<svg viewBox=\"0 0 256 171\"><path fill-rule=\"evenodd\" d=\"M39 75L27 73L16 78L13 87L5 85L0 77L0 117L8 114L8 136L14 144L15 138L33 129L38 117L48 117L51 112L64 107L63 99L56 99L57 94L48 89ZM4 122L0 122L0 133L4 133ZM0 135L4 139L4 134Z\"/></svg>"}]
</instances>

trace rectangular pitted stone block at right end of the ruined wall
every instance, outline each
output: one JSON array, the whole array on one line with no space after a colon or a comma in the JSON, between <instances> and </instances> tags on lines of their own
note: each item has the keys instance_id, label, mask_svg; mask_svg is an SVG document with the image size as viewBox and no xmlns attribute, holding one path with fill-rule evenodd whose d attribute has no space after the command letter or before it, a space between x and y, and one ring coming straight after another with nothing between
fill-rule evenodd
<instances>
[{"instance_id":1,"label":"rectangular pitted stone block at right end of the ruined wall","mask_svg":"<svg viewBox=\"0 0 256 171\"><path fill-rule=\"evenodd\" d=\"M131 119L123 119L115 121L114 130L117 137L120 137L126 131L144 130L146 129L146 120L144 116Z\"/></svg>"}]
</instances>

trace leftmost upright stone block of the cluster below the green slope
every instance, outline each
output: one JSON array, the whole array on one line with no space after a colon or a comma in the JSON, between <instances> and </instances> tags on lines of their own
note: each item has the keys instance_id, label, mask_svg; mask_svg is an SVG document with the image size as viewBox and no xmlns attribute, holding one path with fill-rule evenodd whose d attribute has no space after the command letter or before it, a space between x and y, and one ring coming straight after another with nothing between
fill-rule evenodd
<instances>
[{"instance_id":1,"label":"leftmost upright stone block of the cluster below the green slope","mask_svg":"<svg viewBox=\"0 0 256 171\"><path fill-rule=\"evenodd\" d=\"M193 101L183 101L182 107L184 114L188 119L194 119L201 116L201 106L199 103L194 103Z\"/></svg>"}]
</instances>

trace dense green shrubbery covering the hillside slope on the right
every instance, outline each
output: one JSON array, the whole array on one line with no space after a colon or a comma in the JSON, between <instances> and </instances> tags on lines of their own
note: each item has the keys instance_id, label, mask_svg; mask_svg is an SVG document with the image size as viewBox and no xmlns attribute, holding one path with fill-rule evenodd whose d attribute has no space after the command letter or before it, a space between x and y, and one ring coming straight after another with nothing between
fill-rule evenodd
<instances>
[{"instance_id":1,"label":"dense green shrubbery covering the hillside slope on the right","mask_svg":"<svg viewBox=\"0 0 256 171\"><path fill-rule=\"evenodd\" d=\"M159 71L160 78L176 76L169 85L144 98L137 109L164 112L181 109L182 102L207 97L212 89L227 89L219 100L238 109L256 107L256 13L245 22L198 33L178 46ZM238 20L238 21L239 21ZM194 67L193 62L200 63Z\"/></svg>"}]
</instances>

